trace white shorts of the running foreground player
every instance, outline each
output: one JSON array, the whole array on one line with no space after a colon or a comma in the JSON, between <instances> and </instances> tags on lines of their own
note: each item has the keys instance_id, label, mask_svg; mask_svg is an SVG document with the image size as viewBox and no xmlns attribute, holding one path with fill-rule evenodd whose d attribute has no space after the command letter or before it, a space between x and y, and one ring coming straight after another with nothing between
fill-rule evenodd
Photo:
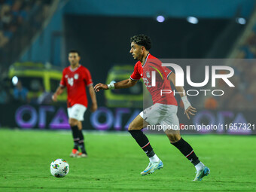
<instances>
[{"instance_id":1,"label":"white shorts of the running foreground player","mask_svg":"<svg viewBox=\"0 0 256 192\"><path fill-rule=\"evenodd\" d=\"M178 107L176 105L156 103L149 108L145 108L139 115L151 125L159 123L163 131L167 129L179 130L177 111Z\"/></svg>"}]
</instances>

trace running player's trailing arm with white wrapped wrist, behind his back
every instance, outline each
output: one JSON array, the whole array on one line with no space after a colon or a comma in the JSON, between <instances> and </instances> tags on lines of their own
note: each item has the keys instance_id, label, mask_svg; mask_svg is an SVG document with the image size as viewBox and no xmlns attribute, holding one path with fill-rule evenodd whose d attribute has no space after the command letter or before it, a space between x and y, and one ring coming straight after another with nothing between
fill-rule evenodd
<instances>
[{"instance_id":1,"label":"running player's trailing arm with white wrapped wrist, behind his back","mask_svg":"<svg viewBox=\"0 0 256 192\"><path fill-rule=\"evenodd\" d=\"M175 86L175 90L178 91L179 95L181 96L182 102L184 104L184 114L187 115L187 118L190 119L189 114L195 115L197 112L196 108L192 107L190 102L187 100L187 95L184 91L184 87L176 86L176 81L175 81L175 73L171 73L169 75L168 80L172 82Z\"/></svg>"}]
</instances>

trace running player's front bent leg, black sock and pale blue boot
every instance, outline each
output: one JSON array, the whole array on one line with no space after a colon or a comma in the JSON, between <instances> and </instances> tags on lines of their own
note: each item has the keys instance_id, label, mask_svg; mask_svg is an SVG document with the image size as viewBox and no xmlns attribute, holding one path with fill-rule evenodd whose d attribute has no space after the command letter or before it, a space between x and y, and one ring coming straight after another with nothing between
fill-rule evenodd
<instances>
[{"instance_id":1,"label":"running player's front bent leg, black sock and pale blue boot","mask_svg":"<svg viewBox=\"0 0 256 192\"><path fill-rule=\"evenodd\" d=\"M130 126L128 128L130 134L133 136L133 138L136 140L142 150L145 151L150 160L148 167L143 172L141 172L142 175L148 175L154 172L156 169L163 168L162 161L154 153L154 150L151 147L147 136L145 136L145 134L142 132L143 127L145 127L146 125L148 125L148 123L142 118L142 114L139 114L132 121L132 123L130 123Z\"/></svg>"}]
</instances>

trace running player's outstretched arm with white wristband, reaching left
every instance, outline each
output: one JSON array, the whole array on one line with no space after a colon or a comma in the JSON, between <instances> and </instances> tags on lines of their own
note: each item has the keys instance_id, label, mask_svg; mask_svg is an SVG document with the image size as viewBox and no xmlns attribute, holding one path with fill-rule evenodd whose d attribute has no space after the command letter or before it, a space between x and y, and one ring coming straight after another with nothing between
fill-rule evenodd
<instances>
[{"instance_id":1,"label":"running player's outstretched arm with white wristband, reaching left","mask_svg":"<svg viewBox=\"0 0 256 192\"><path fill-rule=\"evenodd\" d=\"M94 90L96 92L99 92L99 90L124 89L124 88L133 87L136 83L137 81L133 81L129 78L123 81L119 81L115 84L96 84L96 86L94 86Z\"/></svg>"}]
</instances>

